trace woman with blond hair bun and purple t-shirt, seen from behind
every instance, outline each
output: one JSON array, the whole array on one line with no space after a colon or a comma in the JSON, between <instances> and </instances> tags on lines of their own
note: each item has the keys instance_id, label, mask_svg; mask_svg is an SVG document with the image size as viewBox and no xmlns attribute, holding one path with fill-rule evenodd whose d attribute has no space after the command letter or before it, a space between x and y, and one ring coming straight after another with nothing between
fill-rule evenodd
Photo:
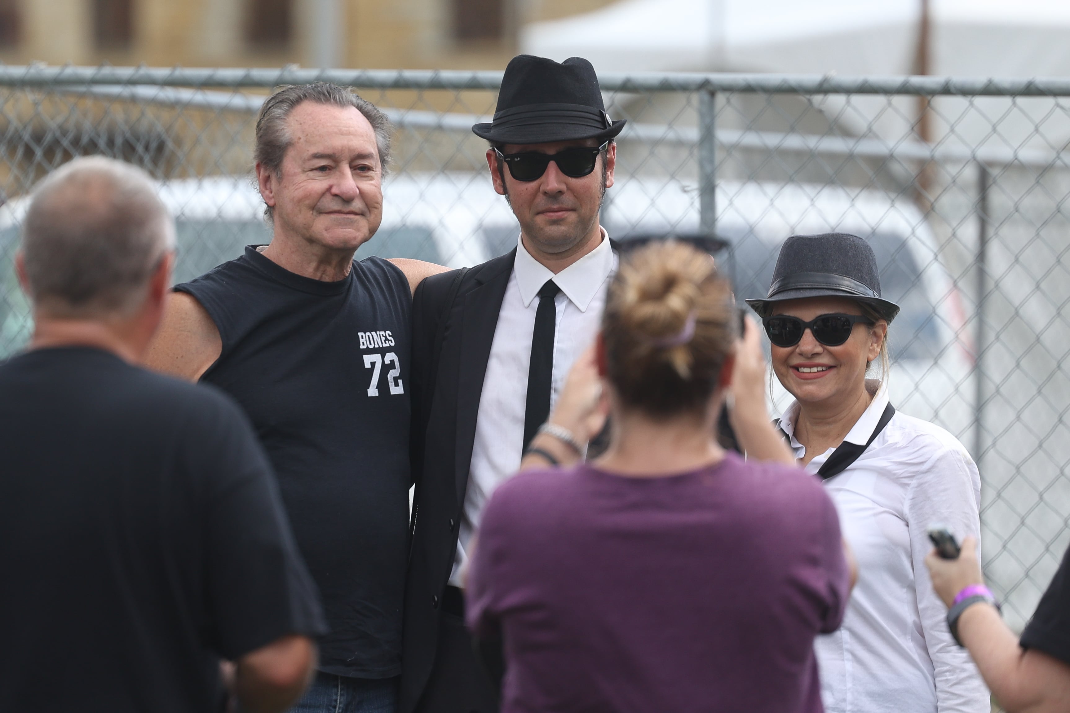
<instances>
[{"instance_id":1,"label":"woman with blond hair bun and purple t-shirt, seen from behind","mask_svg":"<svg viewBox=\"0 0 1070 713\"><path fill-rule=\"evenodd\" d=\"M737 323L708 254L659 243L622 264L596 356L532 441L540 467L495 491L472 559L468 621L504 650L503 713L822 710L813 641L839 626L851 568L820 482L714 437L738 362L740 441L790 461L756 327L739 342ZM547 468L600 428L599 374L608 450Z\"/></svg>"}]
</instances>

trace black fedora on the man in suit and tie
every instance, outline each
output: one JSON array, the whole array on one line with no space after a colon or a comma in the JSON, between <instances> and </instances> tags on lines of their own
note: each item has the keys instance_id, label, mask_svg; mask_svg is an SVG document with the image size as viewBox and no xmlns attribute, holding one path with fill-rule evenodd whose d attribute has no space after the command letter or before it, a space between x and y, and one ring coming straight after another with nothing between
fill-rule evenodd
<instances>
[{"instance_id":1,"label":"black fedora on the man in suit and tie","mask_svg":"<svg viewBox=\"0 0 1070 713\"><path fill-rule=\"evenodd\" d=\"M472 131L494 143L549 143L612 139L624 124L606 113L591 62L518 55L502 76L493 121Z\"/></svg>"}]
</instances>

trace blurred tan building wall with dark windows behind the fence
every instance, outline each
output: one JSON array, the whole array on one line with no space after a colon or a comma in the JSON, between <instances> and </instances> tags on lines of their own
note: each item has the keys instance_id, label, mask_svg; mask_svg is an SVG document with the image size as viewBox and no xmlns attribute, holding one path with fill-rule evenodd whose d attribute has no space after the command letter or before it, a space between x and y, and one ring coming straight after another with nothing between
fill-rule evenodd
<instances>
[{"instance_id":1,"label":"blurred tan building wall with dark windows behind the fence","mask_svg":"<svg viewBox=\"0 0 1070 713\"><path fill-rule=\"evenodd\" d=\"M293 0L292 42L274 49L244 41L245 1L134 0L131 47L102 49L94 46L92 0L22 0L20 41L0 48L0 61L502 68L517 51L517 30L524 22L588 12L613 0L507 0L506 36L482 43L453 38L453 0ZM326 45L320 42L324 31Z\"/></svg>"}]
</instances>

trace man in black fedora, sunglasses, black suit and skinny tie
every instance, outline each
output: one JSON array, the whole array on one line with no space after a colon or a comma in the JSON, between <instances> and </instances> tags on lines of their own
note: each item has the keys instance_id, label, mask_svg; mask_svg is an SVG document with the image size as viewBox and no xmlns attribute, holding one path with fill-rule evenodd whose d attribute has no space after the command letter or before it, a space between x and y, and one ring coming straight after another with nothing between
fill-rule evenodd
<instances>
[{"instance_id":1,"label":"man in black fedora, sunglasses, black suit and skinny tie","mask_svg":"<svg viewBox=\"0 0 1070 713\"><path fill-rule=\"evenodd\" d=\"M502 78L490 142L494 189L520 235L507 254L424 280L413 298L413 543L402 713L498 710L464 627L463 570L483 508L542 430L593 342L617 257L599 223L624 120L591 63L521 55Z\"/></svg>"}]
</instances>

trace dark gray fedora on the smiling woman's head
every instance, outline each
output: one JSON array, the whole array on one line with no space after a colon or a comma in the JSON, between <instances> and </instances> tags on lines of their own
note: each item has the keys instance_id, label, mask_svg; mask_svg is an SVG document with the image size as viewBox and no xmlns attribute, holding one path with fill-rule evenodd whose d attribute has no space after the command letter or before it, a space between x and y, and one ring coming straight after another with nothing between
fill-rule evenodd
<instances>
[{"instance_id":1,"label":"dark gray fedora on the smiling woman's head","mask_svg":"<svg viewBox=\"0 0 1070 713\"><path fill-rule=\"evenodd\" d=\"M747 304L765 317L777 303L805 297L847 297L869 305L888 322L899 313L899 305L881 296L873 248L846 233L789 237L780 247L768 296Z\"/></svg>"}]
</instances>

